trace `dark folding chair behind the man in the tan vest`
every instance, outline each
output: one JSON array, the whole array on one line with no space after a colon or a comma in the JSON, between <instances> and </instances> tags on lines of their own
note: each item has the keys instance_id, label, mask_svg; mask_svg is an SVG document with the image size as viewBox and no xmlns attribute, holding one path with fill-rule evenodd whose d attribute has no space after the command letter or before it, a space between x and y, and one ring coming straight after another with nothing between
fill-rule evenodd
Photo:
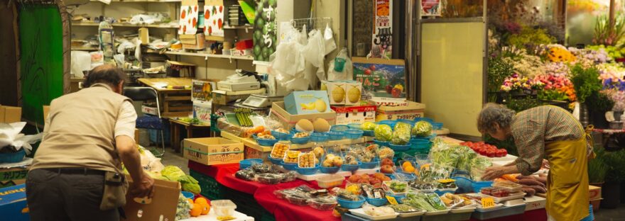
<instances>
[{"instance_id":1,"label":"dark folding chair behind the man in the tan vest","mask_svg":"<svg viewBox=\"0 0 625 221\"><path fill-rule=\"evenodd\" d=\"M163 135L163 121L161 120L161 106L158 103L158 94L151 87L128 87L124 88L124 96L131 98L133 101L151 101L156 100L157 115L143 115L136 120L136 128L146 130L161 130L161 147L163 152L156 152L156 157L165 155L165 137ZM158 138L157 138L158 139Z\"/></svg>"}]
</instances>

